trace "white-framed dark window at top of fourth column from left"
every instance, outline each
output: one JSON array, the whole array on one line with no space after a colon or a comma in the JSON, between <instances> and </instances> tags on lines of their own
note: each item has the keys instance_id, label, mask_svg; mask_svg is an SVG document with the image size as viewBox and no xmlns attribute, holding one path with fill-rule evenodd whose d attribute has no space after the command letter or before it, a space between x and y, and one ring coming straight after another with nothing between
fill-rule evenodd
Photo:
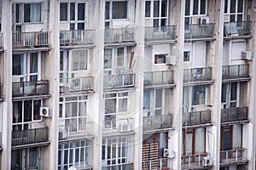
<instances>
[{"instance_id":1,"label":"white-framed dark window at top of fourth column from left","mask_svg":"<svg viewBox=\"0 0 256 170\"><path fill-rule=\"evenodd\" d=\"M167 1L147 0L145 1L145 17L153 20L153 26L167 25Z\"/></svg>"}]
</instances>

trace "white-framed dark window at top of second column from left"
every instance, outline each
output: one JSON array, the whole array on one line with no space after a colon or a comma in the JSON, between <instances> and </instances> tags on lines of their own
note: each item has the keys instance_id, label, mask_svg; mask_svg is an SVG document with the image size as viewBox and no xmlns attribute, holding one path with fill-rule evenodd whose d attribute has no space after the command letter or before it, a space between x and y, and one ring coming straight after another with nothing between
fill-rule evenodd
<instances>
[{"instance_id":1,"label":"white-framed dark window at top of second column from left","mask_svg":"<svg viewBox=\"0 0 256 170\"><path fill-rule=\"evenodd\" d=\"M70 30L84 30L86 27L86 3L61 3L60 20L70 23Z\"/></svg>"}]
</instances>

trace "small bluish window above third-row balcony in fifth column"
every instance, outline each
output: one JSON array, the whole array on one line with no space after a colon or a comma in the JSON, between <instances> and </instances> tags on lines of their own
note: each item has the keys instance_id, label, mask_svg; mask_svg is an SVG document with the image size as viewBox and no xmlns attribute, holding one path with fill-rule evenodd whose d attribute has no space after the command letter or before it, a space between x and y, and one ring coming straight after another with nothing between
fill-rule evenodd
<instances>
[{"instance_id":1,"label":"small bluish window above third-row balcony in fifth column","mask_svg":"<svg viewBox=\"0 0 256 170\"><path fill-rule=\"evenodd\" d=\"M192 105L206 104L206 85L193 86L192 88Z\"/></svg>"}]
</instances>

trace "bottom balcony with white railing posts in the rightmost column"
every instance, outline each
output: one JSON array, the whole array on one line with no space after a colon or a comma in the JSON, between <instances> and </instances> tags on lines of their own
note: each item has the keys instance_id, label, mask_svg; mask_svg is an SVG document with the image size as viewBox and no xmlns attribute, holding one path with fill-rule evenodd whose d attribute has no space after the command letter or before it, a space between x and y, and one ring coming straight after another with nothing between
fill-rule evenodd
<instances>
[{"instance_id":1,"label":"bottom balcony with white railing posts in the rightmost column","mask_svg":"<svg viewBox=\"0 0 256 170\"><path fill-rule=\"evenodd\" d=\"M222 150L220 151L220 164L245 163L247 162L247 149Z\"/></svg>"}]
</instances>

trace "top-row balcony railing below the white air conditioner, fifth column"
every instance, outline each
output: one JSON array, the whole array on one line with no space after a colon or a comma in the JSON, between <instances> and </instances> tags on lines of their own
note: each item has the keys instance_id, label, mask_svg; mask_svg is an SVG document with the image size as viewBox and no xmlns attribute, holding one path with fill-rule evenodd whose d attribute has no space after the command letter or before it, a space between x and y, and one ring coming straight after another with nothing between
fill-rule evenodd
<instances>
[{"instance_id":1,"label":"top-row balcony railing below the white air conditioner, fifth column","mask_svg":"<svg viewBox=\"0 0 256 170\"><path fill-rule=\"evenodd\" d=\"M190 24L185 25L185 39L212 38L214 36L214 24Z\"/></svg>"}]
</instances>

